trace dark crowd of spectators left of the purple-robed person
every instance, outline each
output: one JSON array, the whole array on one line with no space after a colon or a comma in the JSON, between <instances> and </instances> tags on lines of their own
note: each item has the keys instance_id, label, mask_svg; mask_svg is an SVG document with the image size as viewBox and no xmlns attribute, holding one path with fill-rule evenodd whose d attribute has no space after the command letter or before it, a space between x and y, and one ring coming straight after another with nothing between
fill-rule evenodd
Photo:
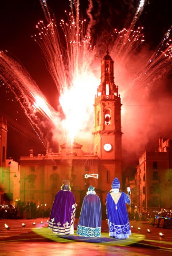
<instances>
[{"instance_id":1,"label":"dark crowd of spectators left of the purple-robed person","mask_svg":"<svg viewBox=\"0 0 172 256\"><path fill-rule=\"evenodd\" d=\"M49 216L50 208L47 208L46 204L37 206L33 201L24 204L19 200L16 206L14 204L0 205L0 219L35 219Z\"/></svg>"}]
</instances>

